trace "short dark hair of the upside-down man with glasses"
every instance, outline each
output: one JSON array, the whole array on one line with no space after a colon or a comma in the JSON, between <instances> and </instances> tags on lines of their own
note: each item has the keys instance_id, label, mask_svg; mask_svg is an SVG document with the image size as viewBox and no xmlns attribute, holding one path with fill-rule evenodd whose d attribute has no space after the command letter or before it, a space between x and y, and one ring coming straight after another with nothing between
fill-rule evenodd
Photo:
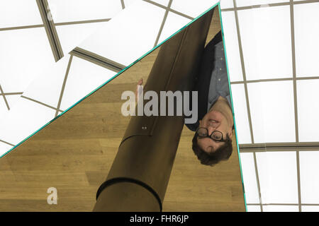
<instances>
[{"instance_id":1,"label":"short dark hair of the upside-down man with glasses","mask_svg":"<svg viewBox=\"0 0 319 226\"><path fill-rule=\"evenodd\" d=\"M198 160L201 161L201 164L203 165L216 165L221 160L228 160L230 155L233 153L233 144L230 137L226 136L225 143L220 146L217 150L215 150L213 153L206 153L203 149L201 149L197 143L197 133L195 133L193 138L193 151L195 155L197 156Z\"/></svg>"}]
</instances>

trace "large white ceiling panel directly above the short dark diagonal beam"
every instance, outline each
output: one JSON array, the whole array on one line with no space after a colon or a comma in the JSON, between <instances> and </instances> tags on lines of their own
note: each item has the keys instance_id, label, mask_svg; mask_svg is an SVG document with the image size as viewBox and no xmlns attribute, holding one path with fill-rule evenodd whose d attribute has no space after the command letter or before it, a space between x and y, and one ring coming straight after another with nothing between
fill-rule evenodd
<instances>
[{"instance_id":1,"label":"large white ceiling panel directly above the short dark diagonal beam","mask_svg":"<svg viewBox=\"0 0 319 226\"><path fill-rule=\"evenodd\" d=\"M124 65L133 63L152 49L165 10L138 1L124 11L121 17L113 18L79 47Z\"/></svg>"}]
</instances>

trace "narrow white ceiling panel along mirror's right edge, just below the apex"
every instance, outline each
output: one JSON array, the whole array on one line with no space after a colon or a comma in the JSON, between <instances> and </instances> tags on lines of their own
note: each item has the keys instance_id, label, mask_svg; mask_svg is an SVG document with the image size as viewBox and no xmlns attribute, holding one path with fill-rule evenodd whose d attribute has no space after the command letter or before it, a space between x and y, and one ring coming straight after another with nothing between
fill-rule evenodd
<instances>
[{"instance_id":1,"label":"narrow white ceiling panel along mirror's right edge, just below the apex","mask_svg":"<svg viewBox=\"0 0 319 226\"><path fill-rule=\"evenodd\" d=\"M221 15L230 82L243 81L235 13L233 11L225 11Z\"/></svg>"}]
</instances>

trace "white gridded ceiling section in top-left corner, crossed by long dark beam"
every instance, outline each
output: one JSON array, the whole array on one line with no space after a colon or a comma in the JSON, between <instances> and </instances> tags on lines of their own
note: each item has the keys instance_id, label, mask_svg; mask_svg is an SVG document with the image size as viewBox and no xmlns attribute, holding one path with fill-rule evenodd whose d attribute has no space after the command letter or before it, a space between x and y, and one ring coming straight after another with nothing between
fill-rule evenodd
<instances>
[{"instance_id":1,"label":"white gridded ceiling section in top-left corner, crossed by long dark beam","mask_svg":"<svg viewBox=\"0 0 319 226\"><path fill-rule=\"evenodd\" d=\"M0 104L0 117L31 81L122 10L120 0L94 0L94 4L87 0L77 4L72 0L1 1L0 85L6 105ZM103 6L103 16L96 6Z\"/></svg>"}]
</instances>

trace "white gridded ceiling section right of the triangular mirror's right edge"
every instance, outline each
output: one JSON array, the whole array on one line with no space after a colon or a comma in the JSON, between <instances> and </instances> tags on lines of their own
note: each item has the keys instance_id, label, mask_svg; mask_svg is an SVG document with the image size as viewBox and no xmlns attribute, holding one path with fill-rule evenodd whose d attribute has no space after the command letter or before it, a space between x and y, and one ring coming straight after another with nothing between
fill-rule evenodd
<instances>
[{"instance_id":1,"label":"white gridded ceiling section right of the triangular mirror's right edge","mask_svg":"<svg viewBox=\"0 0 319 226\"><path fill-rule=\"evenodd\" d=\"M222 0L247 209L319 210L319 1Z\"/></svg>"}]
</instances>

